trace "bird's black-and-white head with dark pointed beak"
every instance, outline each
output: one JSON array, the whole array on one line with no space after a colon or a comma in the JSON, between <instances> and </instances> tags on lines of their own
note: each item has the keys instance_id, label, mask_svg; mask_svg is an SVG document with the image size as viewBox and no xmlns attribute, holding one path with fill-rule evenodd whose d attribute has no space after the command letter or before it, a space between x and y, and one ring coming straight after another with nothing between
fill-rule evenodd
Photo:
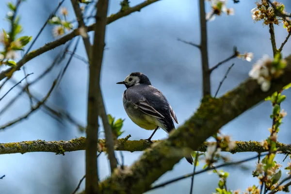
<instances>
[{"instance_id":1,"label":"bird's black-and-white head with dark pointed beak","mask_svg":"<svg viewBox=\"0 0 291 194\"><path fill-rule=\"evenodd\" d=\"M126 88L130 88L135 85L139 84L146 84L151 85L151 82L149 81L148 77L146 77L145 74L140 72L134 72L130 73L124 81L117 82L117 84L124 84Z\"/></svg>"}]
</instances>

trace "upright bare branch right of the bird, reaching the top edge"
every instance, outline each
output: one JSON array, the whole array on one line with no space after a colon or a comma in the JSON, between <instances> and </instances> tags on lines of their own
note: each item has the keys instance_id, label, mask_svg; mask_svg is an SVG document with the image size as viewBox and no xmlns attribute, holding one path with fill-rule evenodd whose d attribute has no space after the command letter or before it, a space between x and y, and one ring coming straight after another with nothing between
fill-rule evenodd
<instances>
[{"instance_id":1,"label":"upright bare branch right of the bird, reaching the top edge","mask_svg":"<svg viewBox=\"0 0 291 194\"><path fill-rule=\"evenodd\" d=\"M202 60L202 77L203 77L203 97L211 95L210 87L210 72L208 64L208 50L207 50L207 25L205 18L205 0L199 0L200 9L200 50Z\"/></svg>"}]
</instances>

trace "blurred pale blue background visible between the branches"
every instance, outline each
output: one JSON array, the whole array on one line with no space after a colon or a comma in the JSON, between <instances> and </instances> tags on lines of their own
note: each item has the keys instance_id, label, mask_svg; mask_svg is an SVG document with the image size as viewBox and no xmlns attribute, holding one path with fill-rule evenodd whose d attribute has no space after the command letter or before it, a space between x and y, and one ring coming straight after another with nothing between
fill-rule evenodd
<instances>
[{"instance_id":1,"label":"blurred pale blue background visible between the branches","mask_svg":"<svg viewBox=\"0 0 291 194\"><path fill-rule=\"evenodd\" d=\"M14 0L15 1L15 0ZM0 27L8 29L9 23L4 17L7 14L6 3L0 1ZM21 35L36 36L47 17L56 8L59 0L27 0L19 7L20 23L24 28ZM130 2L131 6L141 3L142 0ZM216 69L211 74L212 94L215 93L219 82L232 63L226 81L222 85L218 96L236 87L240 82L248 78L248 72L254 62L263 54L272 56L272 47L268 27L263 27L262 22L254 23L251 17L251 9L255 7L255 0L241 0L233 4L229 0L227 7L235 9L234 16L217 16L215 20L208 22L208 43L210 66L231 56L233 47L237 46L241 53L253 52L252 62L234 59ZM290 0L279 0L285 4L288 12L291 12ZM15 2L14 2L15 3ZM120 0L111 0L109 15L120 9ZM65 0L64 7L69 10L69 19L74 20L74 12L69 0ZM207 12L210 6L207 3ZM198 0L161 0L142 9L141 12L132 13L107 26L106 50L102 65L101 84L106 103L107 113L116 118L125 118L122 137L131 135L131 140L148 138L152 131L146 131L136 126L127 116L122 104L122 93L125 87L115 84L123 81L131 72L143 72L152 82L152 85L160 89L168 98L172 108L177 114L180 125L194 113L199 106L201 93L201 60L200 51L190 45L177 41L181 38L187 41L200 42ZM94 19L90 20L92 23ZM77 27L77 23L74 23ZM48 25L36 41L32 49L37 49L49 41L53 41L53 26ZM93 33L90 32L90 35ZM277 46L287 36L283 26L275 26ZM73 45L76 38L73 40ZM72 47L71 47L72 48ZM28 79L32 81L44 71L53 61L54 57L64 49L64 46L53 49L39 57L29 61L26 66L27 73L34 73ZM72 50L72 49L71 49ZM86 58L85 49L80 41L76 53ZM283 56L291 54L291 41L287 42L283 49ZM55 79L60 67L34 84L30 90L37 97L42 98L49 91L51 82ZM1 67L3 70L3 67ZM14 74L14 78L21 80L23 71ZM65 109L82 125L86 123L87 112L87 88L88 65L79 59L73 58L64 79L49 97L49 104ZM1 82L0 82L1 83ZM25 81L22 82L22 85ZM14 82L8 81L0 91L0 97L5 94ZM0 102L0 110L13 98L19 88L15 88ZM291 92L286 91L287 100L282 108L291 113ZM30 110L30 101L27 95L18 98L10 108L1 115L0 125L27 113ZM272 112L271 103L262 102L253 109L242 114L222 129L233 140L261 141L269 136L268 128L272 125L269 115ZM290 114L284 118L284 124L278 133L278 141L291 144L291 119ZM179 125L177 125L178 127ZM103 130L102 128L100 130ZM0 131L0 142L20 142L28 140L70 140L84 136L79 129L69 122L58 122L50 117L44 109L33 113L28 119ZM103 137L103 133L100 133ZM163 130L158 130L153 139L166 138ZM211 140L211 139L210 139ZM125 165L135 162L142 152L123 152ZM240 160L256 153L239 153L235 155L224 153L233 160ZM116 151L120 161L120 153ZM284 156L278 156L277 161L282 162ZM288 162L288 160L286 160ZM243 164L242 167L225 167L230 172L227 179L227 187L233 190L245 189L252 185L258 185L258 179L251 173L256 167L256 161ZM98 171L100 178L109 175L109 162L104 154L98 158ZM286 164L286 162L284 162ZM203 167L203 162L197 170ZM174 169L165 173L155 184L175 178L193 171L193 165L186 160L181 160ZM69 194L79 183L85 173L85 152L66 152L65 156L54 153L26 153L0 155L0 194ZM284 171L282 178L286 177ZM194 193L210 194L215 192L218 176L205 173L195 176ZM148 194L189 193L191 178L183 179L164 188L147 192ZM84 188L84 182L81 189ZM80 189L80 191L81 191Z\"/></svg>"}]
</instances>

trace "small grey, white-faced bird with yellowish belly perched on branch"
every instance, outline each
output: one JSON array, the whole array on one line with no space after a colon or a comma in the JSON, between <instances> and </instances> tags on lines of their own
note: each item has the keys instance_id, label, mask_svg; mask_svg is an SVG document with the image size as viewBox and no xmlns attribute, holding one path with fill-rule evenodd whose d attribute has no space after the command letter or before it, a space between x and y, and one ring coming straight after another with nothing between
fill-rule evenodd
<instances>
[{"instance_id":1,"label":"small grey, white-faced bird with yellowish belly perched on branch","mask_svg":"<svg viewBox=\"0 0 291 194\"><path fill-rule=\"evenodd\" d=\"M151 138L159 128L168 134L175 129L174 121L178 124L175 112L167 98L151 85L145 74L130 73L124 81L116 84L124 84L127 88L122 99L125 112L131 121L143 129L154 130L146 141L152 143ZM193 164L191 155L185 158Z\"/></svg>"}]
</instances>

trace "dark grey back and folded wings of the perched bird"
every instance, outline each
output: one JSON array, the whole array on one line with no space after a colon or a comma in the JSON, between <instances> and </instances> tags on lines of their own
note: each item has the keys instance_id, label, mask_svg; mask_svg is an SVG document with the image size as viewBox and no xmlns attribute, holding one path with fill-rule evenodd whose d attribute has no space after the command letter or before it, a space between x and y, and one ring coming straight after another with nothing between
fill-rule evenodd
<instances>
[{"instance_id":1,"label":"dark grey back and folded wings of the perched bird","mask_svg":"<svg viewBox=\"0 0 291 194\"><path fill-rule=\"evenodd\" d=\"M139 101L139 108L142 112L157 118L172 118L176 123L178 119L166 97L160 90L151 85L137 85L128 89L127 96ZM138 98L138 99L136 99Z\"/></svg>"}]
</instances>

